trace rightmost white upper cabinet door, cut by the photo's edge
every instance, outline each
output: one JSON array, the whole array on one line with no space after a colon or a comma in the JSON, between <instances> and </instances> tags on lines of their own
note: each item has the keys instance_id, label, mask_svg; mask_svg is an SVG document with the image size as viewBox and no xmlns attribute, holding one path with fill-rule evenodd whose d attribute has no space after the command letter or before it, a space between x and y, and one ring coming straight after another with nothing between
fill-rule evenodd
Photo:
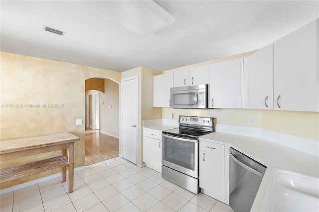
<instances>
[{"instance_id":1,"label":"rightmost white upper cabinet door, cut by the photo's edge","mask_svg":"<svg viewBox=\"0 0 319 212\"><path fill-rule=\"evenodd\" d=\"M318 111L318 19L274 42L274 109Z\"/></svg>"}]
</instances>

